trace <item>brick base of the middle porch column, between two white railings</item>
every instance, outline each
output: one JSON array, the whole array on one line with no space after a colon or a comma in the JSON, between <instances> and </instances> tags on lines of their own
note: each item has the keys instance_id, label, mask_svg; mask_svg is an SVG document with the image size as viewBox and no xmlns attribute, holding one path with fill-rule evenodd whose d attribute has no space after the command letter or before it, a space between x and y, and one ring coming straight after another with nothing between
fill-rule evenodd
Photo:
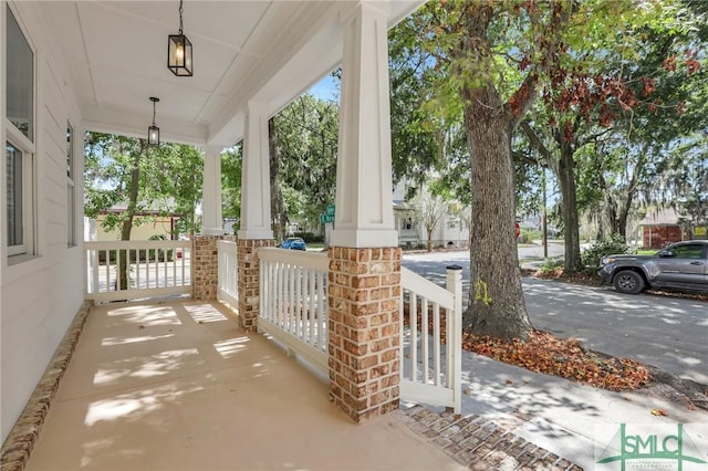
<instances>
[{"instance_id":1,"label":"brick base of the middle porch column, between two white railings","mask_svg":"<svg viewBox=\"0 0 708 471\"><path fill-rule=\"evenodd\" d=\"M238 239L239 266L239 325L247 331L256 331L258 325L260 286L260 263L256 251L259 247L274 247L273 239Z\"/></svg>"}]
</instances>

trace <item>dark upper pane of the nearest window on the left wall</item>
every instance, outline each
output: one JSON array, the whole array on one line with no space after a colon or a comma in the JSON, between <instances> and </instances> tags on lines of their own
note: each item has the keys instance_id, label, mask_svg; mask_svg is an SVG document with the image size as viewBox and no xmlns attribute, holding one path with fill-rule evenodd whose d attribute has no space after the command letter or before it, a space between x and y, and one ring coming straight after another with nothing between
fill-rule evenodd
<instances>
[{"instance_id":1,"label":"dark upper pane of the nearest window on the left wall","mask_svg":"<svg viewBox=\"0 0 708 471\"><path fill-rule=\"evenodd\" d=\"M8 119L34 142L34 53L9 6L7 13Z\"/></svg>"}]
</instances>

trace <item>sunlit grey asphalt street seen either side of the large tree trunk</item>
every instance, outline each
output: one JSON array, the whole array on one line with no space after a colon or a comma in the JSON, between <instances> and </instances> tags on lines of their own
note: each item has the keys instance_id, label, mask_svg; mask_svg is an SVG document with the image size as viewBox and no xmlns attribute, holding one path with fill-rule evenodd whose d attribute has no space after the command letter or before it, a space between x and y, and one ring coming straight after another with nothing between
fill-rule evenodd
<instances>
[{"instance_id":1,"label":"sunlit grey asphalt street seen either side of the large tree trunk","mask_svg":"<svg viewBox=\"0 0 708 471\"><path fill-rule=\"evenodd\" d=\"M445 283L445 266L449 264L464 268L467 293L467 251L404 254L403 260L404 266L439 284ZM708 384L706 302L652 294L623 295L610 286L529 278L523 279L523 292L529 317L537 328L560 337L577 337L594 350L634 358Z\"/></svg>"}]
</instances>

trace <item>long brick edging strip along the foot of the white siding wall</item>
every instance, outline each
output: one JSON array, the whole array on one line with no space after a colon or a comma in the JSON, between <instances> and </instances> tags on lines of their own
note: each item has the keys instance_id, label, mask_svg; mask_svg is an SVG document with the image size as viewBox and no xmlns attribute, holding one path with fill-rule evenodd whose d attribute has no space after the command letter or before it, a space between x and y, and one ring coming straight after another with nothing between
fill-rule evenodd
<instances>
[{"instance_id":1,"label":"long brick edging strip along the foot of the white siding wall","mask_svg":"<svg viewBox=\"0 0 708 471\"><path fill-rule=\"evenodd\" d=\"M44 425L44 418L49 414L52 399L59 389L59 381L69 366L76 343L79 343L79 334L84 328L92 307L93 301L84 301L64 334L64 338L56 347L42 379L32 391L20 418L0 449L0 471L22 471L24 469L42 425Z\"/></svg>"}]
</instances>

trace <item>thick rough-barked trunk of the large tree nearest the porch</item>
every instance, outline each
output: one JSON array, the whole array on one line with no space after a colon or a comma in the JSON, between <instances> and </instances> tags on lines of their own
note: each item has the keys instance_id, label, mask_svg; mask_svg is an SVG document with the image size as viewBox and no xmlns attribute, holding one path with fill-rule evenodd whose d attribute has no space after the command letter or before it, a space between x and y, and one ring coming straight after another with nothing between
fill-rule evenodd
<instances>
[{"instance_id":1,"label":"thick rough-barked trunk of the large tree nearest the porch","mask_svg":"<svg viewBox=\"0 0 708 471\"><path fill-rule=\"evenodd\" d=\"M477 335L527 338L531 322L514 238L511 119L492 86L464 88L472 170L470 296L462 323Z\"/></svg>"}]
</instances>

